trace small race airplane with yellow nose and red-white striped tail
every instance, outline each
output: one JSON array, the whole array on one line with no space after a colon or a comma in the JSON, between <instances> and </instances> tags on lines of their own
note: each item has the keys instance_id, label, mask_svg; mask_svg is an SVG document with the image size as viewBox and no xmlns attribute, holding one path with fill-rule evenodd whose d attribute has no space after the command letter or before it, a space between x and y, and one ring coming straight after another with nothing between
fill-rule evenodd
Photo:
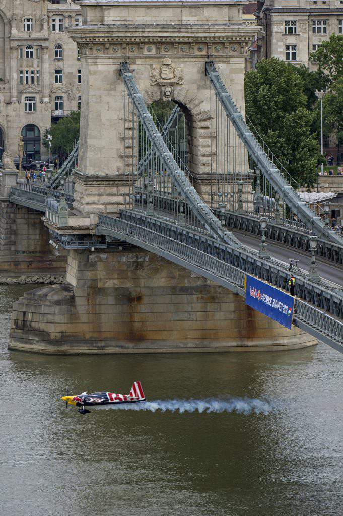
<instances>
[{"instance_id":1,"label":"small race airplane with yellow nose and red-white striped tail","mask_svg":"<svg viewBox=\"0 0 343 516\"><path fill-rule=\"evenodd\" d=\"M77 412L80 414L88 414L90 410L85 409L88 405L116 405L118 403L138 403L145 401L144 392L140 382L134 382L129 394L116 394L114 392L99 391L87 394L87 391L77 396L69 396L67 388L67 396L61 399L66 401L66 406L74 405L80 407Z\"/></svg>"}]
</instances>

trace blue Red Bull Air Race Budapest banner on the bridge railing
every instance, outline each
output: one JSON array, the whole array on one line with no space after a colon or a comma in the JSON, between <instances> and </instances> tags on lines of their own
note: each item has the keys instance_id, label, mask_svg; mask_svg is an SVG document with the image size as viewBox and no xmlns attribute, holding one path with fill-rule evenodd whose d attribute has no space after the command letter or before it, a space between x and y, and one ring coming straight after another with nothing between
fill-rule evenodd
<instances>
[{"instance_id":1,"label":"blue Red Bull Air Race Budapest banner on the bridge railing","mask_svg":"<svg viewBox=\"0 0 343 516\"><path fill-rule=\"evenodd\" d=\"M286 328L291 328L294 298L253 276L246 276L246 304Z\"/></svg>"}]
</instances>

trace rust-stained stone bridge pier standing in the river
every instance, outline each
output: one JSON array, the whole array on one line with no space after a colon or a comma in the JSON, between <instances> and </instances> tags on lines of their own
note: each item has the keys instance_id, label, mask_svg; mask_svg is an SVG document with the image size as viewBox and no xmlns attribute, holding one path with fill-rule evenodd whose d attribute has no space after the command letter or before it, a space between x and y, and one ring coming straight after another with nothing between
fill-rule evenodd
<instances>
[{"instance_id":1,"label":"rust-stained stone bridge pier standing in the river","mask_svg":"<svg viewBox=\"0 0 343 516\"><path fill-rule=\"evenodd\" d=\"M225 288L142 250L71 251L69 283L13 305L10 349L122 353L295 349L316 343Z\"/></svg>"}]
</instances>

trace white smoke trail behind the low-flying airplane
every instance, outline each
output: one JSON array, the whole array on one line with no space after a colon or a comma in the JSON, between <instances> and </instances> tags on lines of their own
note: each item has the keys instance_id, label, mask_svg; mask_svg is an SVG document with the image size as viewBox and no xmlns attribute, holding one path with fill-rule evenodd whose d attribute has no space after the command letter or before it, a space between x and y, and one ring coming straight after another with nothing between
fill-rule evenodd
<instances>
[{"instance_id":1,"label":"white smoke trail behind the low-flying airplane","mask_svg":"<svg viewBox=\"0 0 343 516\"><path fill-rule=\"evenodd\" d=\"M88 407L87 407L88 408ZM253 398L230 398L230 399L156 399L154 401L141 401L139 403L127 403L118 405L101 405L99 407L89 407L90 409L102 410L150 410L156 412L236 412L237 414L264 414L267 415L273 406L262 399Z\"/></svg>"}]
</instances>

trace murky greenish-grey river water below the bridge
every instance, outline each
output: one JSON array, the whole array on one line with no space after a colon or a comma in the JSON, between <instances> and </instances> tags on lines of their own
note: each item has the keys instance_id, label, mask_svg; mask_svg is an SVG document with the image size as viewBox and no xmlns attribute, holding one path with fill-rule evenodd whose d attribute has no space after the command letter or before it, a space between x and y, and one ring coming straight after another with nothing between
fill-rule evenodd
<instances>
[{"instance_id":1,"label":"murky greenish-grey river water below the bridge","mask_svg":"<svg viewBox=\"0 0 343 516\"><path fill-rule=\"evenodd\" d=\"M341 516L341 354L323 345L282 353L8 352L11 304L30 288L0 286L1 516ZM81 416L59 400L67 385L73 394L125 393L137 379L154 400L149 410ZM191 398L200 409L206 398L206 407L228 411L155 410L166 400L183 409Z\"/></svg>"}]
</instances>

